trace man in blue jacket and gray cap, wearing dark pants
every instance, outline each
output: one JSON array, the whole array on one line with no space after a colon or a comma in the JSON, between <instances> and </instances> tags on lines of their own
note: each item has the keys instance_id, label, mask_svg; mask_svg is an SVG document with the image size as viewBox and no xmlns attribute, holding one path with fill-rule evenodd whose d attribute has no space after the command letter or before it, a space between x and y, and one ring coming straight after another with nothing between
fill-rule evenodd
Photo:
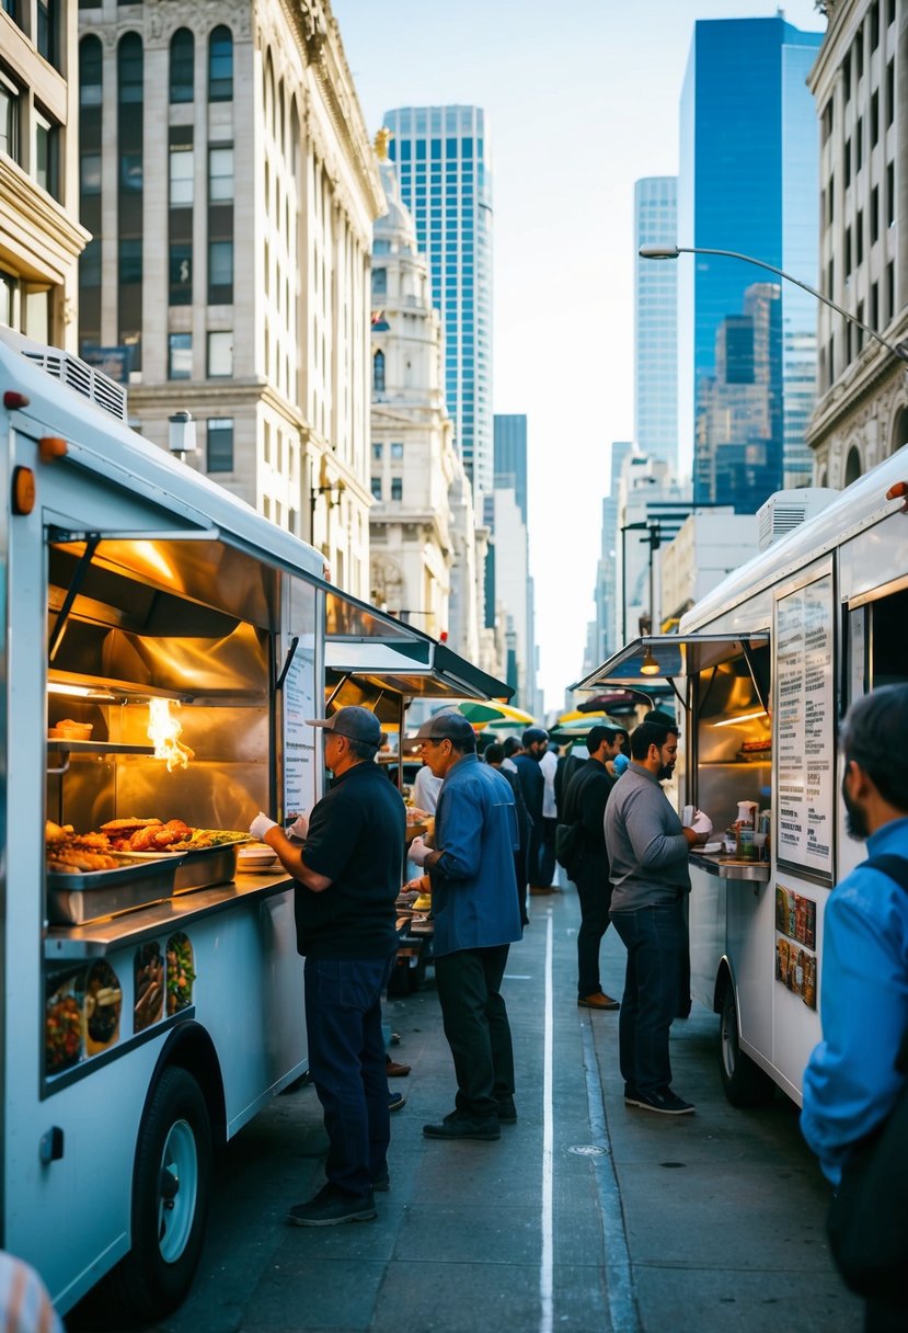
<instances>
[{"instance_id":1,"label":"man in blue jacket and gray cap, wearing dark pants","mask_svg":"<svg viewBox=\"0 0 908 1333\"><path fill-rule=\"evenodd\" d=\"M435 846L410 844L431 878L433 954L445 1036L457 1076L455 1109L423 1125L426 1138L501 1138L517 1120L514 1050L501 993L510 945L521 938L514 850L517 809L507 780L477 757L473 728L435 713L417 732L443 777Z\"/></svg>"}]
</instances>

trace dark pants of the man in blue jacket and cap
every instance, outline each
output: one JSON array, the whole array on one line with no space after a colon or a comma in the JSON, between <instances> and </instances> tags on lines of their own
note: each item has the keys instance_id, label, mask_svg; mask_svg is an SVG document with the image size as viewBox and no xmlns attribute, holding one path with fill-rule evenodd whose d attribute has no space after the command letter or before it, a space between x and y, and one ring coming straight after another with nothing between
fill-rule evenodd
<instances>
[{"instance_id":1,"label":"dark pants of the man in blue jacket and cap","mask_svg":"<svg viewBox=\"0 0 908 1333\"><path fill-rule=\"evenodd\" d=\"M454 1057L455 1105L465 1116L494 1116L514 1094L514 1049L501 996L510 945L458 949L435 958L445 1036Z\"/></svg>"}]
</instances>

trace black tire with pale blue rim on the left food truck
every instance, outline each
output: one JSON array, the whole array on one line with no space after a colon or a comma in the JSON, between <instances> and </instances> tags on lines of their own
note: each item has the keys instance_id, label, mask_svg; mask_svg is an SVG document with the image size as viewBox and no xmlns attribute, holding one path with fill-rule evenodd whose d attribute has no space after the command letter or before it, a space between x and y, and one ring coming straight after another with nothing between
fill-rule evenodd
<instances>
[{"instance_id":1,"label":"black tire with pale blue rim on the left food truck","mask_svg":"<svg viewBox=\"0 0 908 1333\"><path fill-rule=\"evenodd\" d=\"M162 1070L136 1146L132 1249L104 1284L105 1300L144 1322L182 1302L198 1266L212 1185L212 1126L185 1069Z\"/></svg>"}]
</instances>

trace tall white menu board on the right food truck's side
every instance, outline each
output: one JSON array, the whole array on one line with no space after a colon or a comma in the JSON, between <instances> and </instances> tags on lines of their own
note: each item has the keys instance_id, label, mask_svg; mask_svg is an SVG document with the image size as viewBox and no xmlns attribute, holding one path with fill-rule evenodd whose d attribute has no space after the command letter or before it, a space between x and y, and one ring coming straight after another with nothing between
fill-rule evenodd
<instances>
[{"instance_id":1,"label":"tall white menu board on the right food truck's side","mask_svg":"<svg viewBox=\"0 0 908 1333\"><path fill-rule=\"evenodd\" d=\"M776 603L776 849L797 869L832 878L832 575Z\"/></svg>"}]
</instances>

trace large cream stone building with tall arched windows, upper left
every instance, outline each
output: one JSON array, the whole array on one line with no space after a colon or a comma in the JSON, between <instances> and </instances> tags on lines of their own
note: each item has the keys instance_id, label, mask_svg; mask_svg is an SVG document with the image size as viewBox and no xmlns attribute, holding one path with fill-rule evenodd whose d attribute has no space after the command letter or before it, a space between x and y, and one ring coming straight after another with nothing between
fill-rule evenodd
<instances>
[{"instance_id":1,"label":"large cream stone building with tall arched windows, upper left","mask_svg":"<svg viewBox=\"0 0 908 1333\"><path fill-rule=\"evenodd\" d=\"M369 595L369 252L383 207L328 0L81 0L80 351L132 419ZM190 461L193 461L190 459Z\"/></svg>"}]
</instances>

